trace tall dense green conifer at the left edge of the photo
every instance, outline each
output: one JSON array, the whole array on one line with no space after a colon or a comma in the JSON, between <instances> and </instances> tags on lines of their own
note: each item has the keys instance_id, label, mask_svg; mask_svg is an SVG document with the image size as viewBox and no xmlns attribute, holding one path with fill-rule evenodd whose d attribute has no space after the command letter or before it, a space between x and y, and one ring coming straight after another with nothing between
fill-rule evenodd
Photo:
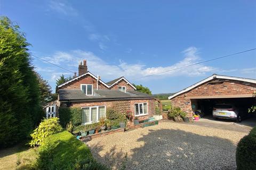
<instances>
[{"instance_id":1,"label":"tall dense green conifer at the left edge of the photo","mask_svg":"<svg viewBox=\"0 0 256 170\"><path fill-rule=\"evenodd\" d=\"M29 45L18 25L0 18L0 147L28 137L42 118Z\"/></svg>"}]
</instances>

